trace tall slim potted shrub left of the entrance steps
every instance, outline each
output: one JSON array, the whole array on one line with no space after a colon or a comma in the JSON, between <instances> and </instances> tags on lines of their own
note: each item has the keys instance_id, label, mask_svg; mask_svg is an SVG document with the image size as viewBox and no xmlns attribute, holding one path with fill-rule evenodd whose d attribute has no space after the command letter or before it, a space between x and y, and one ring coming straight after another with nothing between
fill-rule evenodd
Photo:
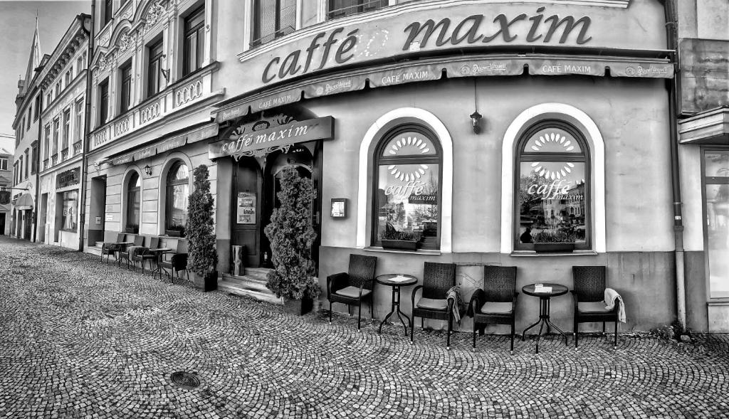
<instances>
[{"instance_id":1,"label":"tall slim potted shrub left of the entrance steps","mask_svg":"<svg viewBox=\"0 0 729 419\"><path fill-rule=\"evenodd\" d=\"M215 248L213 195L210 193L208 167L195 168L195 189L187 202L187 270L201 291L217 289L218 254Z\"/></svg>"}]
</instances>

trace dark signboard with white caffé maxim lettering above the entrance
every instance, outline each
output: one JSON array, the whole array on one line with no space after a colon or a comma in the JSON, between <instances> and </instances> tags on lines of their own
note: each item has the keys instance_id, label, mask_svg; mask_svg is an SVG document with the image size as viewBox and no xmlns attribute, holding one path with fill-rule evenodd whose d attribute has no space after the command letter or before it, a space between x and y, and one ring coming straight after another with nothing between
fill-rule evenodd
<instances>
[{"instance_id":1,"label":"dark signboard with white caff\u00e9 maxim lettering above the entrance","mask_svg":"<svg viewBox=\"0 0 729 419\"><path fill-rule=\"evenodd\" d=\"M225 140L208 144L208 157L211 159L225 156L240 157L253 155L257 150L272 150L305 141L332 138L334 138L334 118L321 117L235 134Z\"/></svg>"}]
</instances>

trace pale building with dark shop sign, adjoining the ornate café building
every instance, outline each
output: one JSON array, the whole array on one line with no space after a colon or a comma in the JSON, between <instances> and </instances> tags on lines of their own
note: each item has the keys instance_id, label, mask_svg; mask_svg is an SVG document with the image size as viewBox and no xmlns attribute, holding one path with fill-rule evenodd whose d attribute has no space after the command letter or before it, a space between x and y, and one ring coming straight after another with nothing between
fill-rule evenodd
<instances>
[{"instance_id":1,"label":"pale building with dark shop sign, adjoining the ornate caf\u00e9 building","mask_svg":"<svg viewBox=\"0 0 729 419\"><path fill-rule=\"evenodd\" d=\"M40 73L38 241L79 248L79 201L86 111L90 15L74 17Z\"/></svg>"}]
</instances>

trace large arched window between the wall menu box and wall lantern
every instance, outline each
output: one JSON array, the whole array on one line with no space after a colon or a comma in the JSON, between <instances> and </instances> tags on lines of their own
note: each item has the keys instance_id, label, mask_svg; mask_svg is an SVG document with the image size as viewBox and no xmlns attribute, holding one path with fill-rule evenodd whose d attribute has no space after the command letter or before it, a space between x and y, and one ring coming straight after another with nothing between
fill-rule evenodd
<instances>
[{"instance_id":1,"label":"large arched window between the wall menu box and wall lantern","mask_svg":"<svg viewBox=\"0 0 729 419\"><path fill-rule=\"evenodd\" d=\"M395 128L383 137L374 160L373 246L385 238L440 248L442 159L440 143L420 126Z\"/></svg>"}]
</instances>

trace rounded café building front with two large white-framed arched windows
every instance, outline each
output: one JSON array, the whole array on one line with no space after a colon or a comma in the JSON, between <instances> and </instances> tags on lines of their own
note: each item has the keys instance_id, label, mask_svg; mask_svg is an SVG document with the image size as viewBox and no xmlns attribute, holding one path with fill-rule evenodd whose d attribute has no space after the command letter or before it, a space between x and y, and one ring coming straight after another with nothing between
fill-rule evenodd
<instances>
[{"instance_id":1,"label":"rounded caf\u00e9 building front with two large white-framed arched windows","mask_svg":"<svg viewBox=\"0 0 729 419\"><path fill-rule=\"evenodd\" d=\"M607 265L623 331L674 318L674 65L659 1L217 7L230 8L219 34L234 34L221 51L237 52L223 53L226 98L208 146L220 272L233 266L231 246L245 246L247 267L265 265L276 176L295 165L315 187L323 289L351 253L377 256L378 274L421 280L425 261L455 262L465 293L483 264L517 266L520 291L572 288L573 265ZM421 248L383 248L392 230L422 236ZM537 253L537 237L574 249ZM375 317L390 293L375 286ZM537 313L522 296L517 328ZM552 317L570 329L569 296L553 300Z\"/></svg>"}]
</instances>

